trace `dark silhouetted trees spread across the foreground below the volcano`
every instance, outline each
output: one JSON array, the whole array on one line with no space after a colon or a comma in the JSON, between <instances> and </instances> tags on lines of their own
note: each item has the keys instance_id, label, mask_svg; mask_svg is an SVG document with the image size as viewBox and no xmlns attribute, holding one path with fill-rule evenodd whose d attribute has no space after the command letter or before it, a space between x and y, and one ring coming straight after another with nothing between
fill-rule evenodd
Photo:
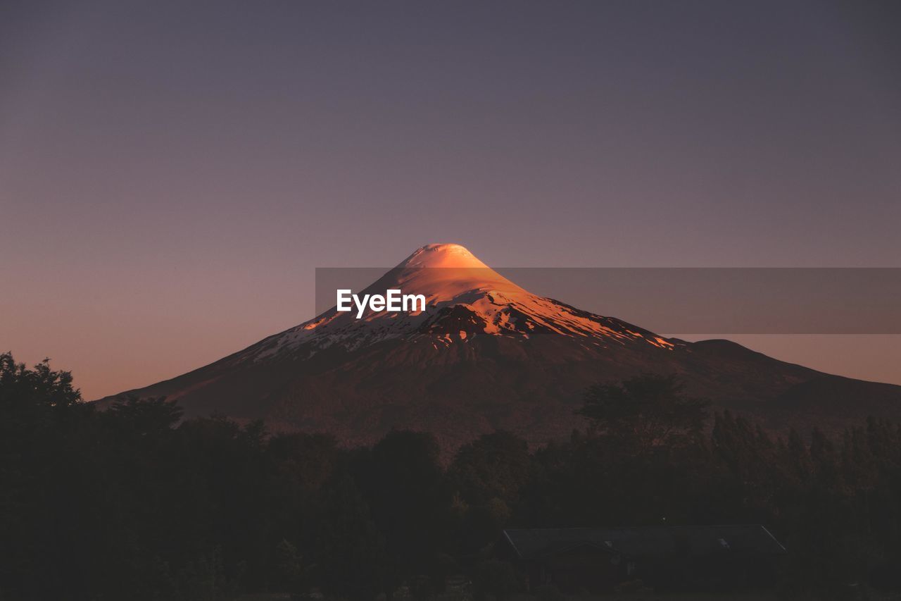
<instances>
[{"instance_id":1,"label":"dark silhouetted trees spread across the foreground below the volcano","mask_svg":"<svg viewBox=\"0 0 901 601\"><path fill-rule=\"evenodd\" d=\"M70 374L2 355L0 599L425 598L458 573L502 596L505 527L659 523L766 524L791 598L901 584L895 424L774 439L654 375L593 388L581 412L566 442L498 431L444 465L427 433L346 449L164 400L95 411Z\"/></svg>"}]
</instances>

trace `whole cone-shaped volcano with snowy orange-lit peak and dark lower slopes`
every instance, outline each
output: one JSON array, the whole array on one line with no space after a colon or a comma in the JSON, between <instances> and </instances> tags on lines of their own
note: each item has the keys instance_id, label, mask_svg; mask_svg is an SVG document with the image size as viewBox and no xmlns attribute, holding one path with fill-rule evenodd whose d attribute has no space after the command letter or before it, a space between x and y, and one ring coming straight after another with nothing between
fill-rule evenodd
<instances>
[{"instance_id":1,"label":"whole cone-shaped volcano with snowy orange-lit peak and dark lower slopes","mask_svg":"<svg viewBox=\"0 0 901 601\"><path fill-rule=\"evenodd\" d=\"M335 308L210 365L126 395L177 400L186 415L265 420L348 445L391 429L433 432L451 449L496 429L533 443L583 426L587 386L678 374L689 393L772 429L841 430L901 418L901 386L851 380L728 340L662 337L523 290L461 245L425 245L362 294L423 294L425 310Z\"/></svg>"}]
</instances>

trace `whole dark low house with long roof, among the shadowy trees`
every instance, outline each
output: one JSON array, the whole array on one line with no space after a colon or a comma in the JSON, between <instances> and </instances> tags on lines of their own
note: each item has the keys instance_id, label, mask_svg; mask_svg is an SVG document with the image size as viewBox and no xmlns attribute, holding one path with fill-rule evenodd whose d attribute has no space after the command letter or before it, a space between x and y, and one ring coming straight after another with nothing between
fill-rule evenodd
<instances>
[{"instance_id":1,"label":"whole dark low house with long roof, among the shadowy trees","mask_svg":"<svg viewBox=\"0 0 901 601\"><path fill-rule=\"evenodd\" d=\"M785 552L760 524L505 530L499 550L530 587L567 592L639 579L657 590L769 587Z\"/></svg>"}]
</instances>

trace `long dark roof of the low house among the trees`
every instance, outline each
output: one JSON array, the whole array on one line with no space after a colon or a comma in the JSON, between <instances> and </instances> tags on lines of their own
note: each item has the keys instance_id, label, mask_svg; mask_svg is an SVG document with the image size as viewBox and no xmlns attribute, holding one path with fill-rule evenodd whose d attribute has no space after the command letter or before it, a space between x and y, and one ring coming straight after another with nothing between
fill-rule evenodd
<instances>
[{"instance_id":1,"label":"long dark roof of the low house among the trees","mask_svg":"<svg viewBox=\"0 0 901 601\"><path fill-rule=\"evenodd\" d=\"M529 528L505 530L504 535L522 559L538 559L582 546L610 550L626 557L786 552L760 524Z\"/></svg>"}]
</instances>

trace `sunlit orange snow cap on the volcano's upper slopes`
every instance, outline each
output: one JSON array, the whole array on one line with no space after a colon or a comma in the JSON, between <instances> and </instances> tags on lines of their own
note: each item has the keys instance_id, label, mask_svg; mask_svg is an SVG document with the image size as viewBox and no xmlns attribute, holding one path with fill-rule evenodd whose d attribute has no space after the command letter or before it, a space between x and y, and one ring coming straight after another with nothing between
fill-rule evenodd
<instances>
[{"instance_id":1,"label":"sunlit orange snow cap on the volcano's upper slopes","mask_svg":"<svg viewBox=\"0 0 901 601\"><path fill-rule=\"evenodd\" d=\"M619 319L525 291L456 244L417 249L360 294L385 294L389 289L423 294L426 310L366 310L362 319L357 319L353 311L332 307L260 341L246 349L242 358L261 361L298 352L313 356L333 345L356 350L397 337L433 347L467 343L481 336L528 339L542 334L578 337L584 347L640 344L672 349L680 344Z\"/></svg>"}]
</instances>

